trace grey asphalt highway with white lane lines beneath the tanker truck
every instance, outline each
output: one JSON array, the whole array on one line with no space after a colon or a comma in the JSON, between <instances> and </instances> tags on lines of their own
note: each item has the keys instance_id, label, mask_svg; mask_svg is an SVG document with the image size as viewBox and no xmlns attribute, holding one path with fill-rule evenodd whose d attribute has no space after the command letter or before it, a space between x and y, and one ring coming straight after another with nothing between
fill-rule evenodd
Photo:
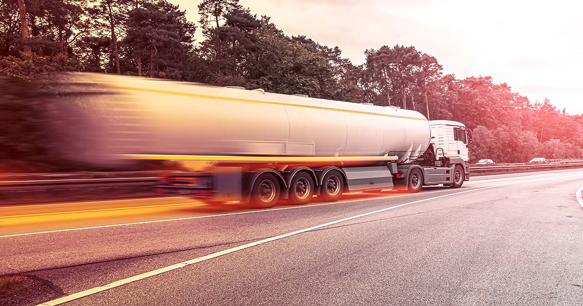
<instances>
[{"instance_id":1,"label":"grey asphalt highway with white lane lines beneath the tanker truck","mask_svg":"<svg viewBox=\"0 0 583 306\"><path fill-rule=\"evenodd\" d=\"M269 210L0 207L0 275L20 276L0 305L583 305L582 186L566 170Z\"/></svg>"}]
</instances>

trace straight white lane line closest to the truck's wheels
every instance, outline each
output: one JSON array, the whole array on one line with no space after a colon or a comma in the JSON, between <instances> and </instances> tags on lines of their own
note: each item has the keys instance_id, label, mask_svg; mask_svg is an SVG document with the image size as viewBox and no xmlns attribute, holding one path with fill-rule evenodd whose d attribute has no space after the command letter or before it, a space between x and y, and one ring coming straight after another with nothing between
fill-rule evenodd
<instances>
[{"instance_id":1,"label":"straight white lane line closest to the truck's wheels","mask_svg":"<svg viewBox=\"0 0 583 306\"><path fill-rule=\"evenodd\" d=\"M470 187L470 188L475 188L475 187ZM319 204L312 204L312 205L302 205L302 206L279 207L279 208L262 209L262 210L248 210L248 211L246 211L246 212L236 212L236 213L221 213L221 214L208 214L208 215L205 215L205 216L184 217L184 218L164 219L164 220L153 220L153 221L141 221L141 222L133 222L133 223L110 224L110 225L102 225L102 226L90 226L90 227L79 227L79 228L66 228L66 229L64 229L64 230L37 231L37 232L33 232L33 233L22 233L22 234L0 235L0 238L6 238L6 237L17 237L17 236L27 236L27 235L37 235L37 234L49 234L49 233L61 233L61 232L63 232L63 231L80 231L80 230L92 230L92 229L94 229L94 228L107 228L107 227L118 227L118 226L132 226L132 225L138 225L138 224L149 224L149 223L160 223L160 222L170 222L170 221L192 220L192 219L202 219L202 218L210 218L210 217L233 216L233 215L235 215L235 214L247 214L247 213L262 213L262 212L273 212L273 211L275 211L275 210L300 209L300 208L307 208L307 207L314 207L314 206L336 205L336 204L351 203L351 202L359 202L359 201L367 201L367 200L378 200L378 199L400 198L400 197L402 197L402 196L413 196L413 195L434 194L434 193L436 193L436 192L445 192L445 191L451 191L451 189L447 189L447 190L438 190L438 191L430 191L430 192L423 192L422 194L405 194L405 195L381 196L381 197L378 197L378 198L356 199L356 200L350 200L350 201L340 201L340 202L319 203Z\"/></svg>"}]
</instances>

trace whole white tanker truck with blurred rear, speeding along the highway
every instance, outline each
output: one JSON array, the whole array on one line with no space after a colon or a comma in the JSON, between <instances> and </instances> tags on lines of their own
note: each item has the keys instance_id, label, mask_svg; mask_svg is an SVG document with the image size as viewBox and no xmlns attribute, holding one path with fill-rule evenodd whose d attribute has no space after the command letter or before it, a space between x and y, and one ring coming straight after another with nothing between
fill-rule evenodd
<instances>
[{"instance_id":1,"label":"whole white tanker truck with blurred rear, speeding along the highway","mask_svg":"<svg viewBox=\"0 0 583 306\"><path fill-rule=\"evenodd\" d=\"M471 131L417 111L128 76L79 73L68 82L93 92L69 103L83 105L85 115L75 112L83 136L70 126L61 134L90 142L71 157L188 165L161 179L160 194L271 207L469 180Z\"/></svg>"}]
</instances>

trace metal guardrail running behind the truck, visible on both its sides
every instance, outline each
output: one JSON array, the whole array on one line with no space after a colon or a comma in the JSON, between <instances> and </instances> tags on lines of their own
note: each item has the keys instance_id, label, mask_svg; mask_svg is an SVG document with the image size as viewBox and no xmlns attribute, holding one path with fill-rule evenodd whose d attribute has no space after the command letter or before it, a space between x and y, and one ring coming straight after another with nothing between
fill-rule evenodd
<instances>
[{"instance_id":1,"label":"metal guardrail running behind the truck, visible on both its sides","mask_svg":"<svg viewBox=\"0 0 583 306\"><path fill-rule=\"evenodd\" d=\"M560 170L570 168L583 168L583 163L577 164L533 164L520 166L489 166L470 167L470 175L521 173L531 171ZM14 180L0 181L2 191L27 191L45 189L75 189L75 188L99 188L99 187L147 187L155 185L158 177L118 177L118 178L71 178L57 180Z\"/></svg>"}]
</instances>

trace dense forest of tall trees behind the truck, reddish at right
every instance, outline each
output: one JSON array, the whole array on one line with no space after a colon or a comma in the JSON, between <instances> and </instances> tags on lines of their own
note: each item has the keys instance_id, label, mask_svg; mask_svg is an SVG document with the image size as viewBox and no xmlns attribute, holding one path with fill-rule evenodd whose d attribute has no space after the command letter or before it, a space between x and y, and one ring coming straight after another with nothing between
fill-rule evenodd
<instances>
[{"instance_id":1,"label":"dense forest of tall trees behind the truck, reddish at right","mask_svg":"<svg viewBox=\"0 0 583 306\"><path fill-rule=\"evenodd\" d=\"M465 123L473 130L470 161L583 158L582 115L530 101L489 76L444 74L436 58L413 46L388 41L354 65L338 47L287 36L238 0L204 0L198 9L201 19L188 20L167 0L2 0L0 75L20 83L2 86L0 160L43 160L49 145L39 143L30 111L40 106L24 96L28 85L62 71L396 105ZM195 31L202 41L194 41Z\"/></svg>"}]
</instances>

